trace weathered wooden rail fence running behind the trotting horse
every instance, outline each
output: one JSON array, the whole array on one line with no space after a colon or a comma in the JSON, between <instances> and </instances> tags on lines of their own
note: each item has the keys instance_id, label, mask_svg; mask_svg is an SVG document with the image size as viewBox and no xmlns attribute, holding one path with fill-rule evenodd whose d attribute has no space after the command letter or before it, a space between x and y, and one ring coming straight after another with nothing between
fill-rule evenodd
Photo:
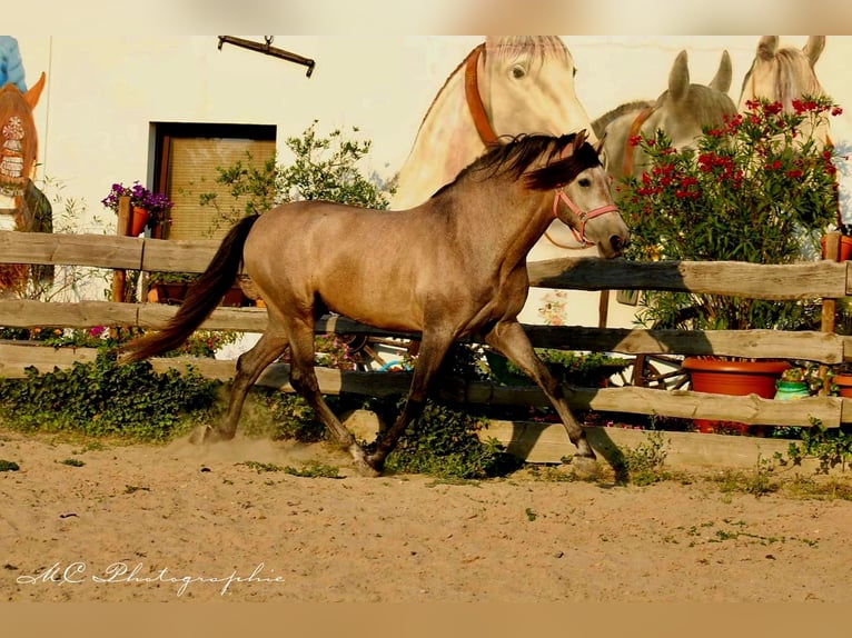
<instances>
[{"instance_id":1,"label":"weathered wooden rail fence running behind the trotting horse","mask_svg":"<svg viewBox=\"0 0 852 638\"><path fill-rule=\"evenodd\" d=\"M42 235L0 232L0 262L76 265L106 269L200 272L218 241L161 241L153 239L92 235ZM848 262L819 261L794 266L760 266L740 262L632 263L594 258L565 258L529 265L534 287L602 290L690 290L760 299L833 300L852 293ZM157 329L176 312L176 307L157 303L83 301L46 303L33 300L0 300L0 326L88 328L136 326ZM260 332L266 325L261 308L219 308L202 326L209 330ZM562 350L617 352L622 355L726 355L816 361L828 366L852 360L852 341L831 331L787 332L776 330L681 331L598 329L569 326L527 326L536 347ZM387 336L341 317L327 317L317 332ZM409 335L395 335L412 337ZM414 336L416 337L416 336ZM29 342L0 343L0 377L18 377L24 368L50 370L75 360L93 358L82 348L53 349ZM182 367L184 358L157 359L158 368ZM192 359L211 378L228 379L235 361ZM318 369L325 393L359 392L380 396L405 391L410 380L405 372L359 372ZM287 367L270 366L259 385L291 390ZM486 382L445 385L445 397L491 405L546 405L535 387L501 387ZM810 397L774 401L754 395L729 397L691 390L660 390L641 387L581 389L569 402L576 409L632 412L682 418L734 420L750 425L809 426L819 419L828 427L852 422L852 400Z\"/></svg>"}]
</instances>

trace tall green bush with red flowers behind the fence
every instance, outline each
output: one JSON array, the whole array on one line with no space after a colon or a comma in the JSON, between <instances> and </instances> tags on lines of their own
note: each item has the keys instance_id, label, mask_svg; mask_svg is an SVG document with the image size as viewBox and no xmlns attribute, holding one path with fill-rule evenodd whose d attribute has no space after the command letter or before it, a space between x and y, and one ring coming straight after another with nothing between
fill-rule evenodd
<instances>
[{"instance_id":1,"label":"tall green bush with red flowers behind the fence","mask_svg":"<svg viewBox=\"0 0 852 638\"><path fill-rule=\"evenodd\" d=\"M631 143L648 170L616 186L631 227L632 259L792 263L819 255L820 237L839 223L833 147L820 133L841 109L829 98L755 101L706 128L695 148L674 149L664 132ZM801 328L806 308L648 291L640 319L658 328Z\"/></svg>"}]
</instances>

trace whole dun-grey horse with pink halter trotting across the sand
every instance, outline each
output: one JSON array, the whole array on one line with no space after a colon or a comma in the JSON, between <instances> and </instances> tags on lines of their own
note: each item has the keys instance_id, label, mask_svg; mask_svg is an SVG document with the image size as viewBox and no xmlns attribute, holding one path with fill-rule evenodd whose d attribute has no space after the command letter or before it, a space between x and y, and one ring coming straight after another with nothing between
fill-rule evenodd
<instances>
[{"instance_id":1,"label":"whole dun-grey horse with pink halter trotting across the sand","mask_svg":"<svg viewBox=\"0 0 852 638\"><path fill-rule=\"evenodd\" d=\"M224 422L201 440L231 439L249 387L287 347L290 383L364 473L380 471L457 339L482 335L544 390L577 455L594 459L585 433L529 343L517 313L528 289L526 256L554 218L621 255L628 231L614 206L597 148L585 131L522 136L495 144L426 202L405 211L323 201L279 206L238 222L164 330L128 346L141 360L180 346L219 302L240 262L268 309L257 345L239 357ZM382 233L388 249L365 252ZM331 310L385 330L422 332L407 401L366 453L324 400L314 371L316 318Z\"/></svg>"}]
</instances>

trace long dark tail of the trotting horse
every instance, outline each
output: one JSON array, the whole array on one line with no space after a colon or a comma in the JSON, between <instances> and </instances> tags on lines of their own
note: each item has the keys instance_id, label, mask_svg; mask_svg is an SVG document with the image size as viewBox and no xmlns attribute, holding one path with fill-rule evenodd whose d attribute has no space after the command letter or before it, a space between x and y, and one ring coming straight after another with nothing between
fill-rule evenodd
<instances>
[{"instance_id":1,"label":"long dark tail of the trotting horse","mask_svg":"<svg viewBox=\"0 0 852 638\"><path fill-rule=\"evenodd\" d=\"M246 217L231 228L210 266L187 290L187 296L175 317L159 332L128 343L126 349L129 352L121 358L123 363L141 361L178 348L209 317L239 273L242 248L258 217Z\"/></svg>"}]
</instances>

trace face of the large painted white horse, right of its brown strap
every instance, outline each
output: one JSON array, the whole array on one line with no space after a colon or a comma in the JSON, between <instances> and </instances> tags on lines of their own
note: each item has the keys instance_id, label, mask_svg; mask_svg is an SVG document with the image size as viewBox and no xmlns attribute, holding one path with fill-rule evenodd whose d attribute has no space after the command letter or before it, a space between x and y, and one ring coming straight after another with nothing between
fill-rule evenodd
<instances>
[{"instance_id":1,"label":"face of the large painted white horse, right of its brown strap","mask_svg":"<svg viewBox=\"0 0 852 638\"><path fill-rule=\"evenodd\" d=\"M497 136L591 130L574 89L574 59L561 38L486 38L479 86Z\"/></svg>"}]
</instances>

